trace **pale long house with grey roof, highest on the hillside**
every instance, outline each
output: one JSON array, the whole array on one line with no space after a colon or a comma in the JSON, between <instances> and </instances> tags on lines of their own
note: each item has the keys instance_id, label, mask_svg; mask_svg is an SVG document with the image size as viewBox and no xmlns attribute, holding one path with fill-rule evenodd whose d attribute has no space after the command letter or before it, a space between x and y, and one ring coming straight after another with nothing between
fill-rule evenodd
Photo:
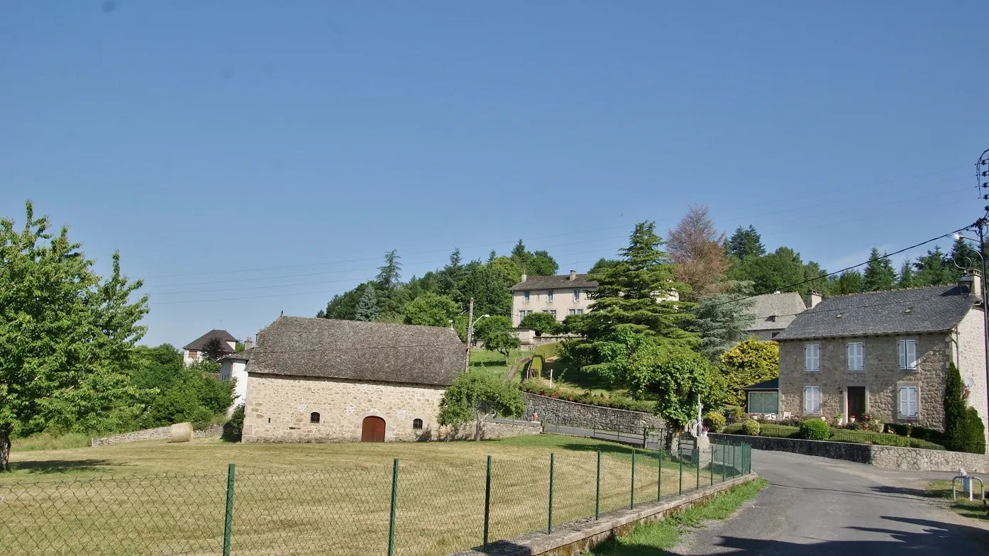
<instances>
[{"instance_id":1,"label":"pale long house with grey roof, highest on the hillside","mask_svg":"<svg viewBox=\"0 0 989 556\"><path fill-rule=\"evenodd\" d=\"M571 270L560 276L526 276L511 287L511 324L517 326L526 315L549 313L563 322L568 315L583 315L591 300L589 292L597 282Z\"/></svg>"}]
</instances>

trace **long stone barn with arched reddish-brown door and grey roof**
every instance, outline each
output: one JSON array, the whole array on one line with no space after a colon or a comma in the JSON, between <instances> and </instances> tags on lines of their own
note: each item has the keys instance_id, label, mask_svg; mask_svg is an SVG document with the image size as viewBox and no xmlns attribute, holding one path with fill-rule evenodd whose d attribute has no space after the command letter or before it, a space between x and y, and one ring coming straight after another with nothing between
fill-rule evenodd
<instances>
[{"instance_id":1,"label":"long stone barn with arched reddish-brown door and grey roof","mask_svg":"<svg viewBox=\"0 0 989 556\"><path fill-rule=\"evenodd\" d=\"M446 327L279 317L247 361L242 441L434 439L464 352Z\"/></svg>"}]
</instances>

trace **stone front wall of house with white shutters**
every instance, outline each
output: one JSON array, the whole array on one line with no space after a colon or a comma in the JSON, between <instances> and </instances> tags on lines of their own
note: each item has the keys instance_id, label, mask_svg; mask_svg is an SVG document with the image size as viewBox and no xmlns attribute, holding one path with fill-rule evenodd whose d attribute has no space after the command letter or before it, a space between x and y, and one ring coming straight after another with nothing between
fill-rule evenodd
<instances>
[{"instance_id":1,"label":"stone front wall of house with white shutters","mask_svg":"<svg viewBox=\"0 0 989 556\"><path fill-rule=\"evenodd\" d=\"M897 341L917 340L917 369L900 370ZM779 398L783 412L792 417L847 416L847 388L865 388L865 413L883 422L911 422L944 430L944 378L953 341L946 333L875 335L862 337L783 340L779 342ZM861 371L848 370L847 344L861 342ZM821 347L819 371L804 370L804 346ZM804 388L821 389L821 413L807 414ZM900 386L918 387L918 417L901 417L897 405Z\"/></svg>"}]
</instances>

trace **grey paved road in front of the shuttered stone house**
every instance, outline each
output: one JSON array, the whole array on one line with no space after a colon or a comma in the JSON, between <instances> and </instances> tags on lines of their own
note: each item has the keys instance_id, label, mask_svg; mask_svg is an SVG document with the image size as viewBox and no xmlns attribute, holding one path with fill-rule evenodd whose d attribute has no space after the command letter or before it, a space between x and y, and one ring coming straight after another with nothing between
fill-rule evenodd
<instances>
[{"instance_id":1,"label":"grey paved road in front of the shuttered stone house","mask_svg":"<svg viewBox=\"0 0 989 556\"><path fill-rule=\"evenodd\" d=\"M733 518L686 537L676 554L904 556L989 554L989 526L920 495L950 473L898 472L753 451L769 481ZM656 556L644 549L644 556Z\"/></svg>"}]
</instances>

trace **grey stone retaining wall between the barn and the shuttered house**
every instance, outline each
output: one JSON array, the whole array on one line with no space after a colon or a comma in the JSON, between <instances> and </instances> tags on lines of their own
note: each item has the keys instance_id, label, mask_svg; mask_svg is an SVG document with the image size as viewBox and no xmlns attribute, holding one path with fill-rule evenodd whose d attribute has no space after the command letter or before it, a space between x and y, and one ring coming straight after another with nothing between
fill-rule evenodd
<instances>
[{"instance_id":1,"label":"grey stone retaining wall between the barn and the shuttered house","mask_svg":"<svg viewBox=\"0 0 989 556\"><path fill-rule=\"evenodd\" d=\"M663 427L663 419L652 414L588 406L567 400L557 400L523 392L527 402L526 420L538 414L539 420L580 428L605 428L619 431L641 431L645 427Z\"/></svg>"}]
</instances>

